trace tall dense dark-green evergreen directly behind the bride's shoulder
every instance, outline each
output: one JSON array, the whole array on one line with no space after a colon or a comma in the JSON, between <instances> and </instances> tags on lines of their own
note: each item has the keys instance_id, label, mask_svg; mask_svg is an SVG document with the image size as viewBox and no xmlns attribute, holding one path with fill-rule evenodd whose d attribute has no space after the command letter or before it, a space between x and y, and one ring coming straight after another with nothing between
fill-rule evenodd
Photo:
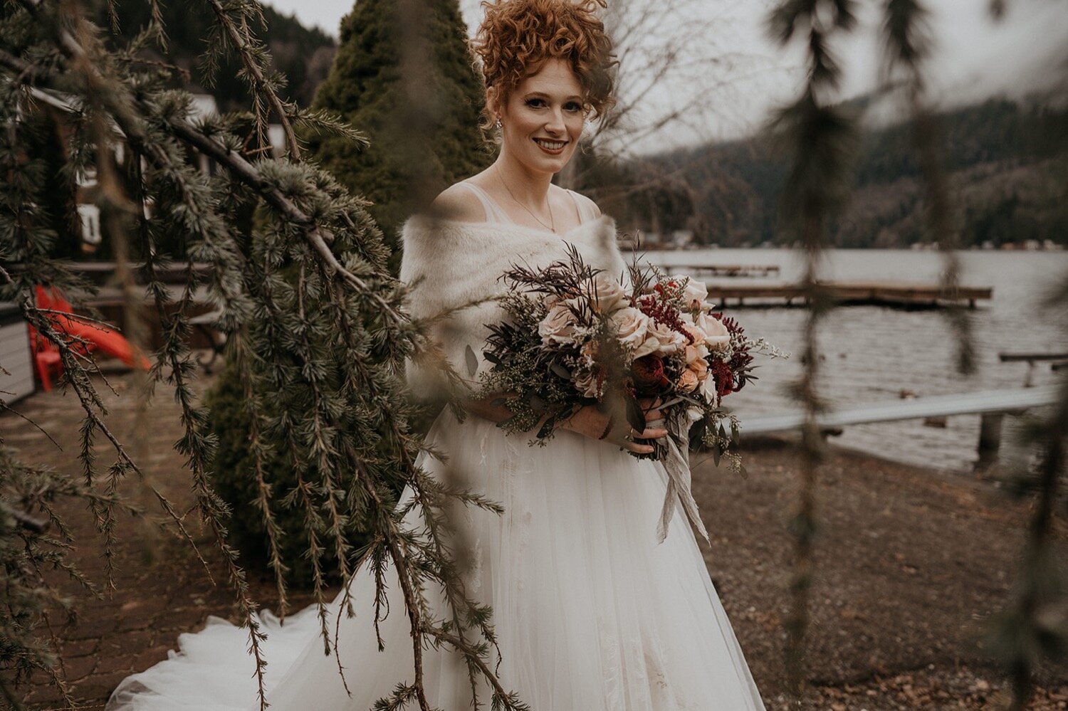
<instances>
[{"instance_id":1,"label":"tall dense dark-green evergreen directly behind the bride's shoulder","mask_svg":"<svg viewBox=\"0 0 1068 711\"><path fill-rule=\"evenodd\" d=\"M420 207L420 194L434 194L477 173L491 158L478 129L482 82L467 50L467 31L456 0L424 2L426 56L420 61L419 97L426 123L413 131L402 72L410 27L399 3L359 0L342 20L333 67L315 94L314 108L329 109L364 132L371 145L359 148L330 136L309 137L309 152L349 189L360 187L368 208L395 249L398 227ZM412 189L422 181L423 190Z\"/></svg>"}]
</instances>

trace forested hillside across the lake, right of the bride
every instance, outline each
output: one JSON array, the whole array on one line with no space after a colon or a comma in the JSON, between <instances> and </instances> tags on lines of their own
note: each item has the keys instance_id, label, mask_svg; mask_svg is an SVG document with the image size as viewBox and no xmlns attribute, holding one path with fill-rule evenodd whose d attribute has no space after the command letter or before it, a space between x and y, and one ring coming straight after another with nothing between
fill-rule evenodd
<instances>
[{"instance_id":1,"label":"forested hillside across the lake, right of the bride","mask_svg":"<svg viewBox=\"0 0 1068 711\"><path fill-rule=\"evenodd\" d=\"M949 174L961 243L993 246L1050 239L1068 243L1059 204L1066 195L1064 126L1068 111L992 100L940 116L941 156ZM781 243L778 201L785 156L773 137L680 151L654 159L674 172L672 188L633 200L625 222L691 227L702 242ZM832 225L839 247L905 247L929 241L915 152L907 125L869 131L855 164L850 205Z\"/></svg>"}]
</instances>

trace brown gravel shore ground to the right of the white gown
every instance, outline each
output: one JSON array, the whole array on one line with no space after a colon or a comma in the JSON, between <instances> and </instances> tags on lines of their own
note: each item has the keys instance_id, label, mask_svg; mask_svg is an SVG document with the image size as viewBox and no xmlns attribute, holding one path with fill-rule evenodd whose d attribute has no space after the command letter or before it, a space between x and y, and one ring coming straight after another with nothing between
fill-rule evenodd
<instances>
[{"instance_id":1,"label":"brown gravel shore ground to the right of the white gown","mask_svg":"<svg viewBox=\"0 0 1068 711\"><path fill-rule=\"evenodd\" d=\"M769 708L1004 708L984 631L1009 599L1025 503L974 477L831 448L819 471L811 689L794 704L782 693L782 621L797 451L766 441L742 457L747 478L705 462L694 489L712 536L705 560ZM1068 708L1063 670L1039 681L1032 708Z\"/></svg>"}]
</instances>

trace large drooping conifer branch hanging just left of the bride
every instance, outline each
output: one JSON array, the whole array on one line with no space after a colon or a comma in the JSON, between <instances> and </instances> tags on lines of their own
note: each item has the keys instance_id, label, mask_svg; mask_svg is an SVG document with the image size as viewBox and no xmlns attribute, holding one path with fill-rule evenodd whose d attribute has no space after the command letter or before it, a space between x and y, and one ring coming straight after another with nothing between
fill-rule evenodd
<instances>
[{"instance_id":1,"label":"large drooping conifer branch hanging just left of the bride","mask_svg":"<svg viewBox=\"0 0 1068 711\"><path fill-rule=\"evenodd\" d=\"M147 290L153 295L164 335L154 374L175 388L186 427L178 446L192 470L201 518L218 541L238 606L251 628L250 646L257 661L262 702L262 634L256 629L254 606L248 599L236 553L225 542L222 519L226 510L209 480L211 444L204 429L204 410L192 393L194 366L185 345L189 332L186 313L203 285L195 270L190 269L180 297L171 301L157 273L156 252L161 235L183 233L193 237L187 258L206 260L214 267L206 286L211 300L222 306L219 327L234 343L247 338L244 345L248 358L240 366L246 388L254 391L261 377L273 385L263 399L266 409L273 408L280 414L254 414L256 427L264 425L257 430L257 439L281 436L294 461L300 462L298 471L303 480L290 503L299 502L303 509L313 565L320 566L326 549L331 549L347 596L351 575L365 558L373 562L379 613L384 600L382 566L388 562L395 569L417 662L411 698L427 708L421 659L428 643L435 647L442 643L453 646L466 657L469 668L487 673L489 665L476 661L487 653L487 647L469 641L457 630L461 629L460 620L471 620L496 644L488 610L462 594L444 540L443 520L436 511L450 500L487 508L492 504L438 486L415 465L421 444L400 424L408 414L399 374L404 359L415 354L423 338L420 326L400 310L404 289L383 266L384 253L378 244L381 232L370 222L363 209L365 202L348 195L314 165L250 160L241 153L231 120L209 117L193 124L188 118L188 97L163 90L151 78L128 74L130 67L137 66L135 62L106 61L106 51L94 41L94 32L82 18L73 15L59 21L50 5L21 1L41 28L50 28L53 48L49 50L42 43L34 53L15 53L0 42L0 65L6 69L5 76L20 84L74 91L76 97L84 95L88 100L75 100L95 107L96 114L106 118L104 125L128 144L132 159L139 163L130 188L135 195L132 214L143 212L151 205L152 217L139 217L138 225ZM244 5L221 6L227 13L248 10ZM225 21L234 20L230 14L223 16ZM247 25L238 25L240 32L247 30ZM161 35L161 29L157 34ZM258 45L245 45L246 49L253 46ZM33 61L27 61L28 57ZM250 50L245 57L252 62L262 59L258 50ZM261 93L273 92L270 81L257 88ZM304 116L305 121L313 118ZM342 132L352 137L350 130ZM198 174L187 164L190 151L214 158L223 172L218 176ZM262 200L272 221L253 234L253 258L235 244L225 205L218 198L241 192ZM264 270L258 269L261 260L267 265ZM296 284L287 281L285 272L292 269L298 274ZM253 312L266 316L262 326L249 320ZM331 331L339 323L344 329L342 338L333 337ZM94 395L91 383L79 392L79 396L88 398ZM91 423L89 434L99 430L96 420ZM91 452L87 446L87 456ZM270 528L273 493L262 476L256 481L258 507ZM410 507L397 508L395 491L404 486L412 488L411 501L431 524L425 536L408 531L403 517ZM352 566L346 536L357 524L372 532L374 543ZM321 546L320 540L330 542ZM278 587L284 599L284 562L277 546L271 547ZM316 579L321 614L325 585L320 574ZM428 580L440 582L446 599L458 606L446 612L451 625L433 619L436 613L431 613L424 589ZM339 613L348 606L345 602L339 605ZM451 630L450 638L439 638L440 630ZM323 633L329 648L325 625ZM504 705L501 708L521 708L491 675L488 681L494 690L494 702Z\"/></svg>"}]
</instances>

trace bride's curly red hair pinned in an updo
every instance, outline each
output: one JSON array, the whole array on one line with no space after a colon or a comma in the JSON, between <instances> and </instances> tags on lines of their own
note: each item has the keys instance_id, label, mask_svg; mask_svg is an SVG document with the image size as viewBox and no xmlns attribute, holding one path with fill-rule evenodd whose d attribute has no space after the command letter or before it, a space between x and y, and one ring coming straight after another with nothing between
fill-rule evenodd
<instances>
[{"instance_id":1,"label":"bride's curly red hair pinned in an updo","mask_svg":"<svg viewBox=\"0 0 1068 711\"><path fill-rule=\"evenodd\" d=\"M597 9L606 0L484 0L486 16L471 50L480 60L486 86L496 86L503 105L516 86L549 59L567 62L583 91L583 102L595 116L615 102L612 41ZM491 122L485 109L486 127Z\"/></svg>"}]
</instances>

